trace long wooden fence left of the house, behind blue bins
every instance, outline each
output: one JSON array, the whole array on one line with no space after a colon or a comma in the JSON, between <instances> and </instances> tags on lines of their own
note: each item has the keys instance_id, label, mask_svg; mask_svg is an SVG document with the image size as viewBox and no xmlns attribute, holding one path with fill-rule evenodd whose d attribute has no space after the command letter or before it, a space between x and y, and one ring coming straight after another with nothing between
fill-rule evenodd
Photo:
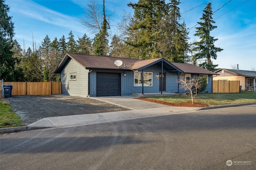
<instances>
[{"instance_id":1,"label":"long wooden fence left of the house, behind blue bins","mask_svg":"<svg viewBox=\"0 0 256 170\"><path fill-rule=\"evenodd\" d=\"M12 85L12 95L58 95L60 82L4 82Z\"/></svg>"}]
</instances>

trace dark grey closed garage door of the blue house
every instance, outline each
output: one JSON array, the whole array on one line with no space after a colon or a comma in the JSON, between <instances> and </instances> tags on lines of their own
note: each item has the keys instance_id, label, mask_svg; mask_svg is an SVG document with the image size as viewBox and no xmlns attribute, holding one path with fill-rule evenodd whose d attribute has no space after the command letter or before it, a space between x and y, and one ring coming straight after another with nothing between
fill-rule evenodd
<instances>
[{"instance_id":1,"label":"dark grey closed garage door of the blue house","mask_svg":"<svg viewBox=\"0 0 256 170\"><path fill-rule=\"evenodd\" d=\"M120 74L97 73L97 96L119 96Z\"/></svg>"}]
</instances>

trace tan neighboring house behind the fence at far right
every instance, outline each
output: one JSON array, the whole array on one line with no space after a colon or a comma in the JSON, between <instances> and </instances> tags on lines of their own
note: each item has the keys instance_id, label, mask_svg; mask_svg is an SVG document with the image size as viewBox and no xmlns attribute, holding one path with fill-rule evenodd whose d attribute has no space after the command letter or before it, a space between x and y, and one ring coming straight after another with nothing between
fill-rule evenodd
<instances>
[{"instance_id":1,"label":"tan neighboring house behind the fence at far right","mask_svg":"<svg viewBox=\"0 0 256 170\"><path fill-rule=\"evenodd\" d=\"M213 80L224 81L240 81L241 90L256 91L256 71L236 70L234 69L218 69L215 71L218 73Z\"/></svg>"}]
</instances>

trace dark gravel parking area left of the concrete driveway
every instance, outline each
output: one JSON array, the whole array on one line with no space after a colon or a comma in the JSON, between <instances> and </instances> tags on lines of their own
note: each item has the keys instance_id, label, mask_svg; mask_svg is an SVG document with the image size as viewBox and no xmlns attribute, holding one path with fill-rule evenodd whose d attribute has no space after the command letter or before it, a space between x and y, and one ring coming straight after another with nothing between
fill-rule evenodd
<instances>
[{"instance_id":1,"label":"dark gravel parking area left of the concrete driveway","mask_svg":"<svg viewBox=\"0 0 256 170\"><path fill-rule=\"evenodd\" d=\"M5 99L26 125L46 117L129 110L97 99L66 95L12 96Z\"/></svg>"}]
</instances>

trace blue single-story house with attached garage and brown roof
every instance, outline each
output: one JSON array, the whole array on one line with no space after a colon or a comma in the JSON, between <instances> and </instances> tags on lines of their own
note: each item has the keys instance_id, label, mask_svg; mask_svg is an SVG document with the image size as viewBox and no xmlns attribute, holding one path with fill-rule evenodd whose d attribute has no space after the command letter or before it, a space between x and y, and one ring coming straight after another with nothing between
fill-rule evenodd
<instances>
[{"instance_id":1,"label":"blue single-story house with attached garage and brown roof","mask_svg":"<svg viewBox=\"0 0 256 170\"><path fill-rule=\"evenodd\" d=\"M179 88L179 77L194 76L207 77L204 92L212 93L212 76L218 75L192 64L170 63L164 58L141 60L75 53L67 53L55 73L61 74L62 94L80 97L184 93Z\"/></svg>"}]
</instances>

